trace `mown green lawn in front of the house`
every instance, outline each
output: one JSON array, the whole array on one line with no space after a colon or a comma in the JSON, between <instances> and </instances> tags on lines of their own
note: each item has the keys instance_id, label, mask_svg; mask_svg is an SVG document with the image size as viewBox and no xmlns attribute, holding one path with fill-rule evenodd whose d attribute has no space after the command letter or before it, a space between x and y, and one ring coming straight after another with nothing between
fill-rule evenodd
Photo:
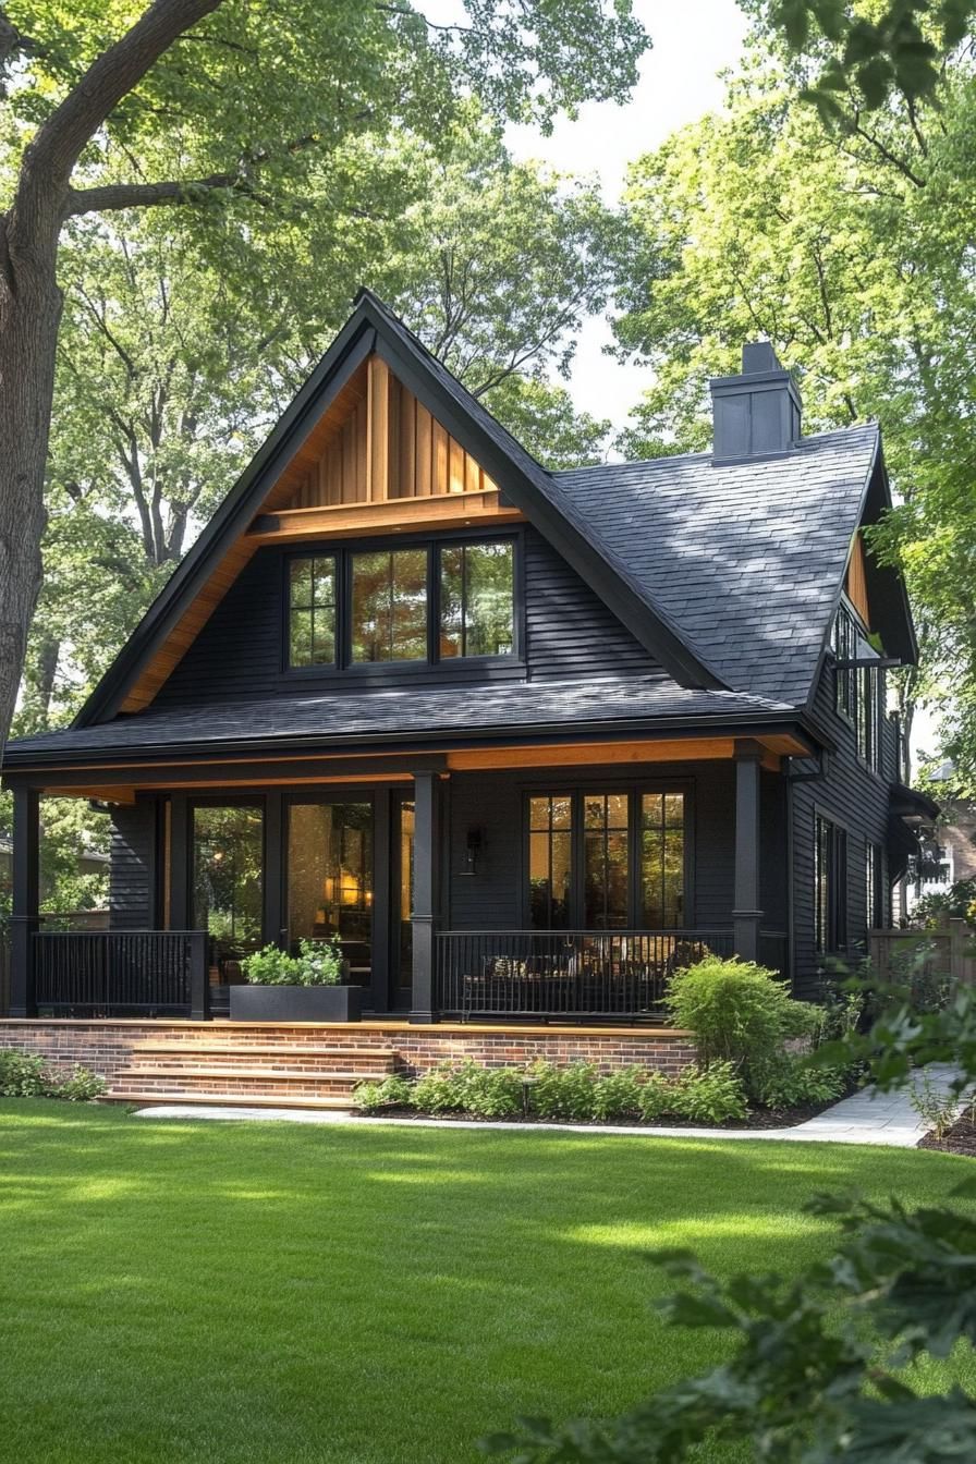
<instances>
[{"instance_id":1,"label":"mown green lawn in front of the house","mask_svg":"<svg viewBox=\"0 0 976 1464\"><path fill-rule=\"evenodd\" d=\"M619 1411L720 1356L651 1246L790 1268L824 1187L969 1161L768 1140L173 1123L0 1101L0 1458L461 1464L524 1413Z\"/></svg>"}]
</instances>

